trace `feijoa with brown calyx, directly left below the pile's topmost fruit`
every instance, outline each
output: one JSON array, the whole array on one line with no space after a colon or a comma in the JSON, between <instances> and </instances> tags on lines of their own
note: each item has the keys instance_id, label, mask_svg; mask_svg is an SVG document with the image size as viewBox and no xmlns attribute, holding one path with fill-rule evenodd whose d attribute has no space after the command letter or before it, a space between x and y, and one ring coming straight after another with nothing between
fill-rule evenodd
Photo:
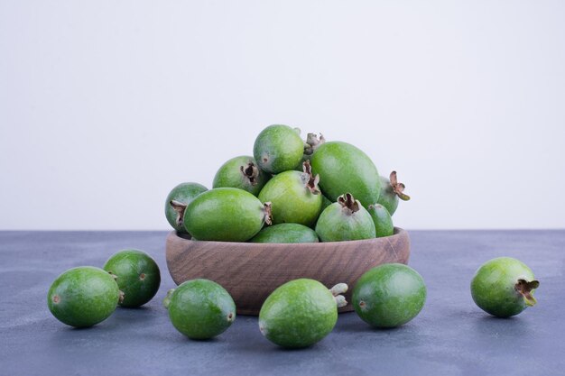
<instances>
[{"instance_id":1,"label":"feijoa with brown calyx, directly left below the pile's topmost fruit","mask_svg":"<svg viewBox=\"0 0 565 376\"><path fill-rule=\"evenodd\" d=\"M257 196L271 176L246 155L227 160L216 172L212 188L240 188Z\"/></svg>"}]
</instances>

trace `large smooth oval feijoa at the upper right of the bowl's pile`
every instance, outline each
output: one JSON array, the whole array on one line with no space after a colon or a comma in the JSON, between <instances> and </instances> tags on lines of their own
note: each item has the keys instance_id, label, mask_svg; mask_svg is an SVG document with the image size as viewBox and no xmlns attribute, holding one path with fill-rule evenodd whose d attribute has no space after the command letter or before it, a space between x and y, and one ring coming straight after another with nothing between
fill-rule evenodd
<instances>
[{"instance_id":1,"label":"large smooth oval feijoa at the upper right of the bowl's pile","mask_svg":"<svg viewBox=\"0 0 565 376\"><path fill-rule=\"evenodd\" d=\"M378 202L381 180L365 152L346 142L325 142L312 154L312 174L320 174L320 188L331 201L346 192L363 206Z\"/></svg>"}]
</instances>

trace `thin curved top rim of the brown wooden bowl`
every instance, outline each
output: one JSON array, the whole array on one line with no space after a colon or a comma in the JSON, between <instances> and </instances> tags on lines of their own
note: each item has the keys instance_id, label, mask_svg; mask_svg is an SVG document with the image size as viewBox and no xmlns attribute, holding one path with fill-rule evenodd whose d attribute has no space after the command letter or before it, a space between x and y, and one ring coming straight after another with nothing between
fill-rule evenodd
<instances>
[{"instance_id":1,"label":"thin curved top rim of the brown wooden bowl","mask_svg":"<svg viewBox=\"0 0 565 376\"><path fill-rule=\"evenodd\" d=\"M378 238L371 238L371 239L363 239L363 240L347 240L341 242L318 242L318 243L245 243L245 242L217 242L217 241L207 241L207 240L193 240L187 237L183 237L177 233L177 231L173 230L169 234L169 238L172 240L174 239L175 242L180 243L201 243L201 244L210 244L210 245L221 245L226 246L227 244L233 245L235 247L257 247L257 248L265 248L265 247L281 247L281 246L292 246L298 248L312 248L312 247L327 247L329 244L363 244L363 243L378 243L378 242L389 242L390 239L398 238L408 234L406 230L401 227L394 227L394 234L389 236L382 236Z\"/></svg>"}]
</instances>

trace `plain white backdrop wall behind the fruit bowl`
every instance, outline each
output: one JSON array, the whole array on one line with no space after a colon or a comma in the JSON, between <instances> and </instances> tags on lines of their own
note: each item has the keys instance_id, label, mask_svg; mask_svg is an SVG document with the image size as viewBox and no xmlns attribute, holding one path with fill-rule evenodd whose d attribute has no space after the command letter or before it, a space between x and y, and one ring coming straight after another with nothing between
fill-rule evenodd
<instances>
[{"instance_id":1,"label":"plain white backdrop wall behind the fruit bowl","mask_svg":"<svg viewBox=\"0 0 565 376\"><path fill-rule=\"evenodd\" d=\"M565 2L0 0L0 229L166 229L268 124L356 144L395 224L565 227Z\"/></svg>"}]
</instances>

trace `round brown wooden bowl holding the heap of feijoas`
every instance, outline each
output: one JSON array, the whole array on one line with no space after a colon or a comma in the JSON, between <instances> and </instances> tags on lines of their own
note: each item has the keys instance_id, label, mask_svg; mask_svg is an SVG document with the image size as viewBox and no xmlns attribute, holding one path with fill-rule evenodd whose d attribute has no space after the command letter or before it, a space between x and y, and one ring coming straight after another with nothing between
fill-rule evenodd
<instances>
[{"instance_id":1,"label":"round brown wooden bowl holding the heap of feijoas","mask_svg":"<svg viewBox=\"0 0 565 376\"><path fill-rule=\"evenodd\" d=\"M199 242L171 232L167 267L177 285L206 278L222 285L236 301L238 315L259 315L273 289L297 278L320 280L328 288L339 282L351 289L363 273L389 262L407 263L410 238L402 228L394 235L335 243ZM352 311L351 304L339 309Z\"/></svg>"}]
</instances>

